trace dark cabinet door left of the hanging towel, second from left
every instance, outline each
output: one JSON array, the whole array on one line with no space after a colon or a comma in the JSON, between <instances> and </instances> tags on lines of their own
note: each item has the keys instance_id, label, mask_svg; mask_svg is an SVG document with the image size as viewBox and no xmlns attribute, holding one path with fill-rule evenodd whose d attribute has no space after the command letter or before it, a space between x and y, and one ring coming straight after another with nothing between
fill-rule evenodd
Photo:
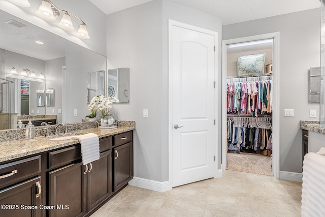
<instances>
[{"instance_id":1,"label":"dark cabinet door left of the hanging towel, second from left","mask_svg":"<svg viewBox=\"0 0 325 217\"><path fill-rule=\"evenodd\" d=\"M49 216L85 216L86 173L82 163L49 172Z\"/></svg>"}]
</instances>

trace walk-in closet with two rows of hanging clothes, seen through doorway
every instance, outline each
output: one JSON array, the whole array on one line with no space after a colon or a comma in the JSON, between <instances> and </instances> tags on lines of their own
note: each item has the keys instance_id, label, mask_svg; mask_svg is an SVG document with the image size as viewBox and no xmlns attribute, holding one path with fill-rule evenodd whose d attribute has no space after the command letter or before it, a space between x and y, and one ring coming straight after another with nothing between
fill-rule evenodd
<instances>
[{"instance_id":1,"label":"walk-in closet with two rows of hanging clothes, seen through doorway","mask_svg":"<svg viewBox=\"0 0 325 217\"><path fill-rule=\"evenodd\" d=\"M227 45L228 170L272 176L273 40Z\"/></svg>"}]
</instances>

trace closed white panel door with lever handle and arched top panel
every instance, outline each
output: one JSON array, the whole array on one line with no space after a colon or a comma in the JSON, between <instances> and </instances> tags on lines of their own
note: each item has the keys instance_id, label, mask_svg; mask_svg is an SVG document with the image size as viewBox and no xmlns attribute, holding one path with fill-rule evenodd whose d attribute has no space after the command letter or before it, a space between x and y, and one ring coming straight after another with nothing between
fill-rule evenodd
<instances>
[{"instance_id":1,"label":"closed white panel door with lever handle and arched top panel","mask_svg":"<svg viewBox=\"0 0 325 217\"><path fill-rule=\"evenodd\" d=\"M170 30L175 187L214 177L216 36L175 25Z\"/></svg>"}]
</instances>

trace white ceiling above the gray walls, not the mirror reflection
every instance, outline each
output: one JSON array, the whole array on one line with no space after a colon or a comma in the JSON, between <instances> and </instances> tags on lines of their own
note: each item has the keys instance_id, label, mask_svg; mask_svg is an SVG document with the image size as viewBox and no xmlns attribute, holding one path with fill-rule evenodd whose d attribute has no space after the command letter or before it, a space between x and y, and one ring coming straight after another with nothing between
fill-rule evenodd
<instances>
[{"instance_id":1,"label":"white ceiling above the gray walls, not the mirror reflection","mask_svg":"<svg viewBox=\"0 0 325 217\"><path fill-rule=\"evenodd\" d=\"M152 0L89 0L111 14ZM164 1L164 0L163 0ZM222 25L319 8L319 0L171 0L218 16Z\"/></svg>"}]
</instances>

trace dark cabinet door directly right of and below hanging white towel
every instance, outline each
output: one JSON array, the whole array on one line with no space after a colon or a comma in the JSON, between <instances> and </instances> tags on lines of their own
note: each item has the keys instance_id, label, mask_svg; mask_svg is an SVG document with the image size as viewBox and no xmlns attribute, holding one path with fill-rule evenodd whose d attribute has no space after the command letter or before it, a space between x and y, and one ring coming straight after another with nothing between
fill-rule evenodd
<instances>
[{"instance_id":1,"label":"dark cabinet door directly right of and below hanging white towel","mask_svg":"<svg viewBox=\"0 0 325 217\"><path fill-rule=\"evenodd\" d=\"M112 194L112 150L88 164L88 212Z\"/></svg>"}]
</instances>

